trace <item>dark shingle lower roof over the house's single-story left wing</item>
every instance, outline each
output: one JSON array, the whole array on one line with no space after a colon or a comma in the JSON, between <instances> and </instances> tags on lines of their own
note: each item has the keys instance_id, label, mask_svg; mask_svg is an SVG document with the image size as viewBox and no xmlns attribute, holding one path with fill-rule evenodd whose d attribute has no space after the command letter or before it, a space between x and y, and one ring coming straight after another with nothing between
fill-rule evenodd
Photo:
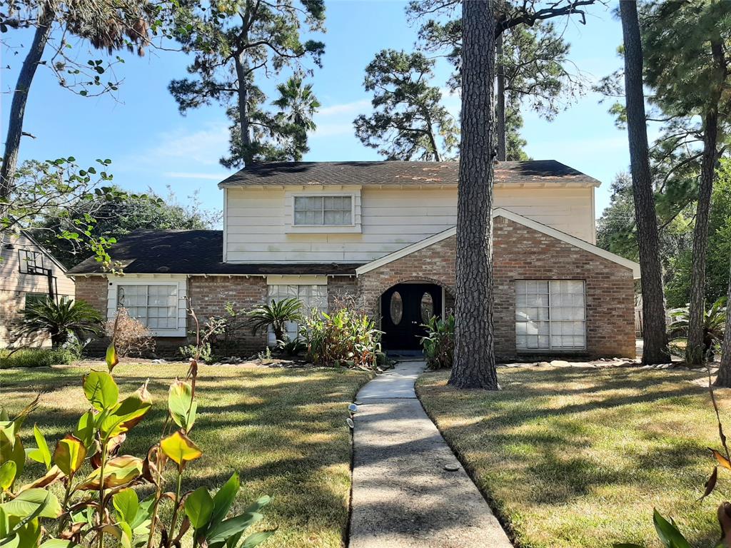
<instances>
[{"instance_id":1,"label":"dark shingle lower roof over the house's single-story left wing","mask_svg":"<svg viewBox=\"0 0 731 548\"><path fill-rule=\"evenodd\" d=\"M110 249L113 261L128 274L330 274L351 275L360 264L232 265L223 258L221 230L140 230L118 238ZM92 257L67 272L101 274Z\"/></svg>"}]
</instances>

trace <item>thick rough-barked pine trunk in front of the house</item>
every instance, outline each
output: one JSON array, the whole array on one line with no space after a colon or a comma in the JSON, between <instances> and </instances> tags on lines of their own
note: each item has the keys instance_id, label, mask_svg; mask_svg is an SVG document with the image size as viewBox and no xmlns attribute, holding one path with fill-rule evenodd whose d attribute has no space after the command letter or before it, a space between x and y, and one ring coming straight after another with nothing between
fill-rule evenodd
<instances>
[{"instance_id":1,"label":"thick rough-barked pine trunk in front of the house","mask_svg":"<svg viewBox=\"0 0 731 548\"><path fill-rule=\"evenodd\" d=\"M494 0L462 7L462 138L457 202L455 360L450 384L499 389L493 351Z\"/></svg>"}]
</instances>

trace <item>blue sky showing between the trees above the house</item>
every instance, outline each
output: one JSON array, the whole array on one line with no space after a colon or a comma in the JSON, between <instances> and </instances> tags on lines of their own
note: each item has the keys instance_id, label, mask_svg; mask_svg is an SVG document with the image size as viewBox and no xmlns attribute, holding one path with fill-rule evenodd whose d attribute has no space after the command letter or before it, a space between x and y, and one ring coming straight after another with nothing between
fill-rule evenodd
<instances>
[{"instance_id":1,"label":"blue sky showing between the trees above the house","mask_svg":"<svg viewBox=\"0 0 731 548\"><path fill-rule=\"evenodd\" d=\"M375 53L385 47L414 47L417 29L408 25L405 6L402 1L327 1L324 66L313 79L323 107L315 119L318 128L310 136L306 160L379 158L357 140L352 121L370 110L370 97L363 91L363 69ZM571 60L589 80L597 80L621 64L616 54L621 26L612 9L589 8L586 26L577 19L557 22L572 45ZM18 34L10 40L27 44L30 36ZM15 84L21 55L2 50L4 128L10 106L7 91ZM229 173L218 161L227 152L224 108L215 105L186 116L178 113L167 84L186 75L189 60L182 53L149 50L144 58L129 54L125 58L126 63L117 69L118 76L124 77L117 99L75 96L40 67L23 127L37 139L23 139L21 160L75 156L80 164L90 165L96 158L110 158L115 183L126 189L149 187L165 195L166 187L171 186L181 201L198 189L206 208L221 208L223 197L216 183ZM447 75L446 64L439 64L436 82L444 85ZM539 118L527 107L523 113L523 137L532 158L556 159L602 180L597 216L609 201L614 175L626 170L629 163L626 134L616 129L607 104L598 104L598 99L589 92L553 121ZM445 101L456 114L458 98Z\"/></svg>"}]
</instances>

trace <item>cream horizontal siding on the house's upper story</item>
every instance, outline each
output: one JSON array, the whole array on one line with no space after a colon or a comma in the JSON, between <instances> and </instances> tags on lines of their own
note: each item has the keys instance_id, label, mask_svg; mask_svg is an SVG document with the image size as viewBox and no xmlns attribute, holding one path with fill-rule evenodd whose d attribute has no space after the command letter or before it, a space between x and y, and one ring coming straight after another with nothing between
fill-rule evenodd
<instances>
[{"instance_id":1,"label":"cream horizontal siding on the house's upper story","mask_svg":"<svg viewBox=\"0 0 731 548\"><path fill-rule=\"evenodd\" d=\"M494 206L594 243L593 190L501 187L495 189ZM288 194L284 189L227 189L229 262L368 262L457 224L456 188L363 187L357 202L360 232L288 233Z\"/></svg>"}]
</instances>

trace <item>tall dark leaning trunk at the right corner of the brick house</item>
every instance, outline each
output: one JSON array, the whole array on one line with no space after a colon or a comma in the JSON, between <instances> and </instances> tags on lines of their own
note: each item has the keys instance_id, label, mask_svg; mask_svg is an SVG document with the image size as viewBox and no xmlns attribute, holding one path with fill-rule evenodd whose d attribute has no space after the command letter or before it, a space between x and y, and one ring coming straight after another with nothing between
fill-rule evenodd
<instances>
[{"instance_id":1,"label":"tall dark leaning trunk at the right corner of the brick house","mask_svg":"<svg viewBox=\"0 0 731 548\"><path fill-rule=\"evenodd\" d=\"M637 243L642 272L643 363L667 363L670 362L670 353L667 350L660 241L650 175L640 23L635 2L624 1L619 6L624 34L624 94L629 159L632 164L632 190L635 194Z\"/></svg>"}]
</instances>

